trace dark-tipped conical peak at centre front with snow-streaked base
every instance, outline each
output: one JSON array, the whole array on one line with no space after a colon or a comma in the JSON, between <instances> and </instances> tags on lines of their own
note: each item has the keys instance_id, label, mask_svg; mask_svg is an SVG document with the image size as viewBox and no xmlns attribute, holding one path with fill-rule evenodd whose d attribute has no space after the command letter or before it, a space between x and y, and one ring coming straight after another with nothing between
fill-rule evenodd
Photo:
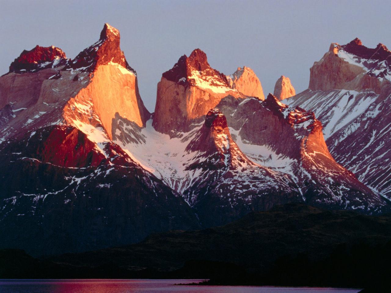
<instances>
[{"instance_id":1,"label":"dark-tipped conical peak at centre front with snow-streaked base","mask_svg":"<svg viewBox=\"0 0 391 293\"><path fill-rule=\"evenodd\" d=\"M183 197L204 227L303 200L289 175L259 166L240 151L218 109L206 114L185 151L193 154L185 170L197 175L187 182Z\"/></svg>"}]
</instances>

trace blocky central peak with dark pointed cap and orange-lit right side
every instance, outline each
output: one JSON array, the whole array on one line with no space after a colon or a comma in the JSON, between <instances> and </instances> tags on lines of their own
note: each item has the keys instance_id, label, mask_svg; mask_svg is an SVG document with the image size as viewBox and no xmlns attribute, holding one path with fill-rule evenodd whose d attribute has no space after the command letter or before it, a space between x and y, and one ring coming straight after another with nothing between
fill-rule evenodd
<instances>
[{"instance_id":1,"label":"blocky central peak with dark pointed cap and orange-lit right side","mask_svg":"<svg viewBox=\"0 0 391 293\"><path fill-rule=\"evenodd\" d=\"M153 126L174 134L191 129L192 123L219 104L225 96L244 98L230 88L226 76L210 67L206 54L195 49L183 55L158 83ZM199 122L199 121L198 121Z\"/></svg>"}]
</instances>

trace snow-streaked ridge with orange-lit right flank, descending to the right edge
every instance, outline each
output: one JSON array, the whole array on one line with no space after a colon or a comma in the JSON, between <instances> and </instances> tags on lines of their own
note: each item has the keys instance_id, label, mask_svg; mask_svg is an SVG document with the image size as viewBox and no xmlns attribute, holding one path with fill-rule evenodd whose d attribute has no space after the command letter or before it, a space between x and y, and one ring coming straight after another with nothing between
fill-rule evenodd
<instances>
[{"instance_id":1,"label":"snow-streaked ridge with orange-lit right flank, descending to the right edge","mask_svg":"<svg viewBox=\"0 0 391 293\"><path fill-rule=\"evenodd\" d=\"M313 112L294 109L269 94L262 102L227 97L219 105L242 151L253 161L288 173L306 202L379 213L389 204L337 164Z\"/></svg>"}]
</instances>

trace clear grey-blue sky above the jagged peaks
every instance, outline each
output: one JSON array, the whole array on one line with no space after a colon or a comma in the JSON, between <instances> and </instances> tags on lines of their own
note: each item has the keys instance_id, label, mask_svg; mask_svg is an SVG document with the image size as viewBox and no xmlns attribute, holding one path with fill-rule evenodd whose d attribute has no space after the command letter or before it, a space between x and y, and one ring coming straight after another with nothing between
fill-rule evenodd
<instances>
[{"instance_id":1,"label":"clear grey-blue sky above the jagged peaks","mask_svg":"<svg viewBox=\"0 0 391 293\"><path fill-rule=\"evenodd\" d=\"M149 111L161 73L195 48L225 74L252 68L267 95L281 75L296 93L306 89L309 68L332 42L358 37L368 47L391 47L389 0L0 0L0 74L35 45L57 46L74 58L99 39L105 22L120 30Z\"/></svg>"}]
</instances>

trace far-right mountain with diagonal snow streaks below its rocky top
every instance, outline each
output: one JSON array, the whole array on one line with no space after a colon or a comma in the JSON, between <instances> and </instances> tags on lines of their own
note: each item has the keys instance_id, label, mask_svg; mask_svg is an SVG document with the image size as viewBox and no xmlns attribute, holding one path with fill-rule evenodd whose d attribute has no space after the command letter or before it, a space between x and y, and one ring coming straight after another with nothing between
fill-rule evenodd
<instances>
[{"instance_id":1,"label":"far-right mountain with diagonal snow streaks below its rocky top","mask_svg":"<svg viewBox=\"0 0 391 293\"><path fill-rule=\"evenodd\" d=\"M355 39L332 44L311 68L309 89L285 102L314 111L334 158L374 191L390 197L391 52Z\"/></svg>"}]
</instances>

